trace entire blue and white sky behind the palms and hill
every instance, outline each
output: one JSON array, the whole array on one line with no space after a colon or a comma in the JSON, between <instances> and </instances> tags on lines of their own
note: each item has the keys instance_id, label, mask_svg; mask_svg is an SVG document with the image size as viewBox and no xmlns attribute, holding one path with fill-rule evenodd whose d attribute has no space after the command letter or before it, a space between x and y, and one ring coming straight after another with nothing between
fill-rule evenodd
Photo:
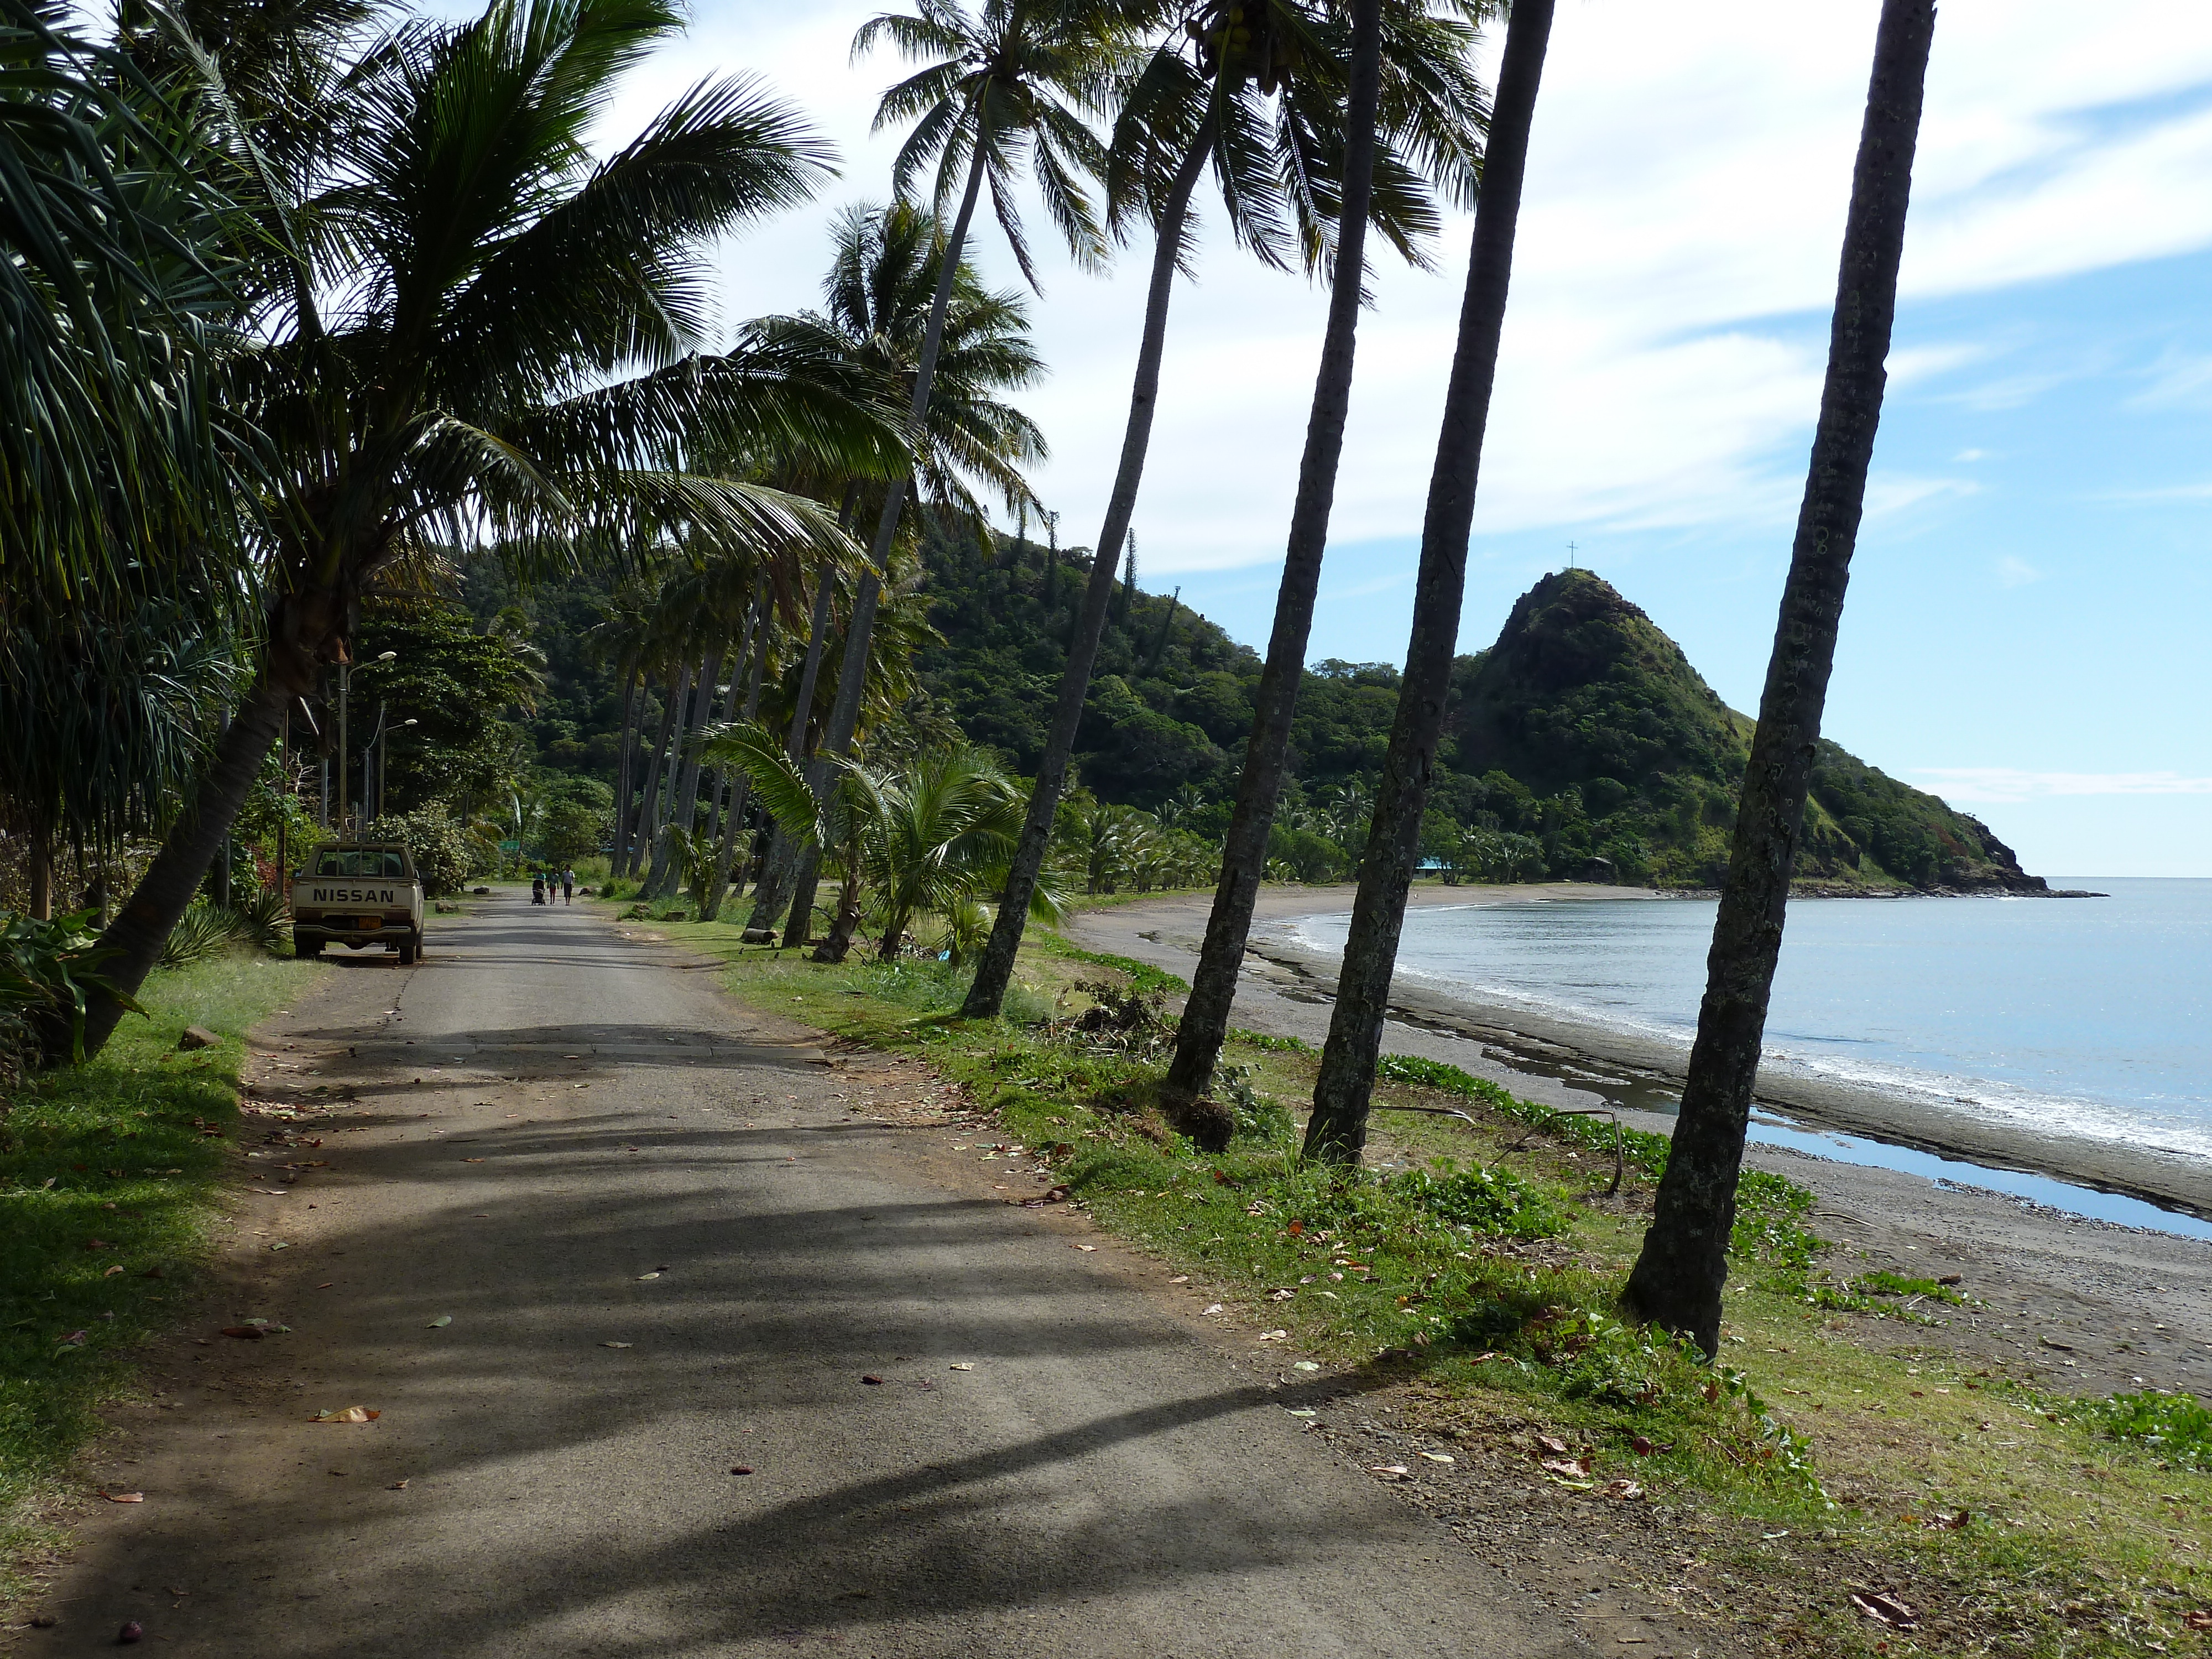
<instances>
[{"instance_id":1,"label":"entire blue and white sky behind the palms and hill","mask_svg":"<svg viewBox=\"0 0 2212 1659\"><path fill-rule=\"evenodd\" d=\"M697 0L606 122L754 73L836 144L810 208L719 252L732 323L812 305L827 223L889 192L880 4ZM1460 648L1568 560L1734 708L1765 675L1805 478L1876 0L1566 0L1546 60ZM1692 27L1694 24L1694 27ZM1206 212L1177 292L1139 582L1263 644L1325 294ZM1046 239L1033 221L1037 243ZM1380 263L1312 659L1400 661L1464 217ZM1020 274L984 226L989 281ZM1391 257L1385 252L1385 261ZM1042 261L1037 491L1097 535L1150 246ZM2212 876L2212 7L1944 0L1889 396L1827 737L1982 816L2046 876Z\"/></svg>"}]
</instances>

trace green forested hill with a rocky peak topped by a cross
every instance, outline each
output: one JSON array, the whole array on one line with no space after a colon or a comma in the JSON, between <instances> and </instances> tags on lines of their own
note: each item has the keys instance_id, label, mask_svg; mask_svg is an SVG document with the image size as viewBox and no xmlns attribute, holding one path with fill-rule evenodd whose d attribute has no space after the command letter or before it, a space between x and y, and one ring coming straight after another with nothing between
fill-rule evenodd
<instances>
[{"instance_id":1,"label":"green forested hill with a rocky peak topped by a cross","mask_svg":"<svg viewBox=\"0 0 2212 1659\"><path fill-rule=\"evenodd\" d=\"M973 741L1031 770L1088 557L933 535L925 560L942 635L922 655L925 688ZM1124 588L1077 737L1082 781L1217 834L1259 668L1256 653L1172 595ZM1332 856L1345 867L1396 703L1387 664L1323 661L1305 675L1276 836L1298 874L1327 874ZM1717 885L1750 732L1608 582L1546 575L1498 641L1455 666L1425 845L1469 874ZM1834 743L1814 768L1798 876L1858 889L2044 885L1984 823Z\"/></svg>"}]
</instances>

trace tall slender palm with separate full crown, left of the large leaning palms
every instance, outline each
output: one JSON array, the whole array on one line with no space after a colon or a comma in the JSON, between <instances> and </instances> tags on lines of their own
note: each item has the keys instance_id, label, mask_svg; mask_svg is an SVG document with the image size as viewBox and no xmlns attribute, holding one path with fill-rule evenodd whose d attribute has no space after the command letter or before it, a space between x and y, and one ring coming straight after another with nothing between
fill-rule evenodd
<instances>
[{"instance_id":1,"label":"tall slender palm with separate full crown, left of the large leaning palms","mask_svg":"<svg viewBox=\"0 0 2212 1659\"><path fill-rule=\"evenodd\" d=\"M927 422L945 314L984 184L991 186L993 217L1031 288L1037 272L1015 201L1024 173L1073 259L1079 265L1104 263L1106 234L1091 201L1091 179L1104 173L1106 153L1086 117L1104 108L1128 40L1124 20L1099 0L982 0L973 13L956 0L920 0L914 13L872 18L854 35L856 55L889 42L905 58L925 62L876 106L878 131L914 124L891 166L896 192L911 199L927 175L936 217L947 226L949 257L938 261L922 352L914 365L909 427ZM907 487L905 478L894 478L876 513L872 571L860 582L845 628L836 703L823 734L830 757L845 757L852 748L876 622L876 573L887 568ZM816 768L816 779L827 779L827 772ZM805 938L812 905L803 876L787 938Z\"/></svg>"}]
</instances>

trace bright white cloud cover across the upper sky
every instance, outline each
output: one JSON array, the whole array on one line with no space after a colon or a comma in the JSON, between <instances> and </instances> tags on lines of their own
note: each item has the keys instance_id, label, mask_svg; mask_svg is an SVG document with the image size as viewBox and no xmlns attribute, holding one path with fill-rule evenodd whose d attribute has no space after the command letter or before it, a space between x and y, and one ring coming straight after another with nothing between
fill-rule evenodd
<instances>
[{"instance_id":1,"label":"bright white cloud cover across the upper sky","mask_svg":"<svg viewBox=\"0 0 2212 1659\"><path fill-rule=\"evenodd\" d=\"M900 64L847 64L852 31L876 9L706 0L686 49L648 66L606 124L635 128L703 73L757 69L845 150L823 204L732 243L732 316L812 303L830 212L887 192L894 139L869 137L867 122ZM1480 531L1790 522L1874 13L1717 0L1683 29L1630 0L1559 11ZM2212 7L2110 0L2084 27L2057 0L1947 0L1907 294L1991 292L2212 243L2212 111L2128 108L2208 84ZM1219 215L1208 219L1199 283L1179 290L1170 321L1137 509L1152 577L1281 555L1318 352L1323 294L1237 254ZM998 234L978 243L993 279L1013 281ZM1095 535L1113 476L1148 254L1130 248L1110 281L1048 270L1035 305L1053 378L1029 407L1055 449L1040 487L1073 542ZM1420 531L1464 257L1467 223L1453 219L1440 274L1376 270L1334 520L1343 544ZM1971 338L1918 341L1891 372L1916 385L1991 354ZM1953 396L2015 407L2077 372L2013 363ZM1898 473L1876 511L1966 489L1916 478L1931 458L1885 462Z\"/></svg>"}]
</instances>

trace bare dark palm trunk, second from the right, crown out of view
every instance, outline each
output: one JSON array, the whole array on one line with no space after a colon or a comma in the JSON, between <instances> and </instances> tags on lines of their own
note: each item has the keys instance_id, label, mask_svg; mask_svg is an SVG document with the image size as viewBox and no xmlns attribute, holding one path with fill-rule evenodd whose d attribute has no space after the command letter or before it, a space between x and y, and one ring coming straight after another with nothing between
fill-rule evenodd
<instances>
[{"instance_id":1,"label":"bare dark palm trunk, second from the right, crown out of view","mask_svg":"<svg viewBox=\"0 0 2212 1659\"><path fill-rule=\"evenodd\" d=\"M1522 177L1528 166L1528 126L1544 80L1553 0L1517 0L1506 24L1491 104L1491 137L1482 161L1482 199L1475 204L1467 292L1460 301L1460 341L1451 354L1444 422L1429 476L1429 507L1420 529L1420 575L1413 584L1413 633L1405 653L1405 681L1391 721L1374 823L1360 858L1360 891L1352 905L1352 933L1336 982L1329 1042L1314 1082L1314 1115L1305 1124L1305 1152L1354 1164L1367 1144L1367 1106L1374 1095L1383 1015L1405 894L1413 885L1420 814L1429 803L1436 745L1444 732L1451 690L1451 653L1460 641L1460 599L1467 586L1467 535L1475 518L1482 436L1489 427L1491 385L1498 378L1498 336L1506 321L1513 279L1513 232L1520 221Z\"/></svg>"}]
</instances>

